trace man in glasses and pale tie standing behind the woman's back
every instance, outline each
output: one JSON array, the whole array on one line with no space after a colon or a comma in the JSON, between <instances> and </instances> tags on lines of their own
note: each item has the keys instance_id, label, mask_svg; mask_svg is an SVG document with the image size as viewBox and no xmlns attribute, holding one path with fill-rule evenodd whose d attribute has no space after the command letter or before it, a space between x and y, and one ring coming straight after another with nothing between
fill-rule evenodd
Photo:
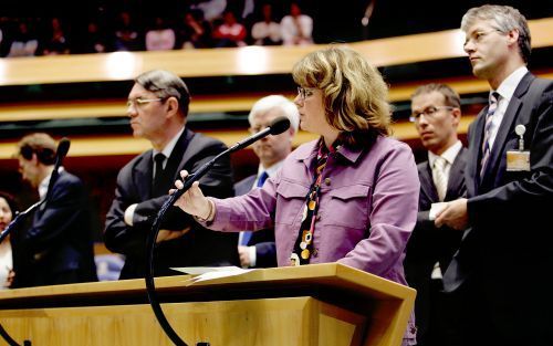
<instances>
[{"instance_id":1,"label":"man in glasses and pale tie standing behind the woman's back","mask_svg":"<svg viewBox=\"0 0 553 346\"><path fill-rule=\"evenodd\" d=\"M419 212L404 261L409 286L417 290L415 316L417 345L445 346L455 323L440 295L441 273L459 248L461 233L449 227L437 228L430 210L444 201L463 197L466 149L457 137L461 118L459 95L445 84L419 86L411 95L411 117L428 160L419 164Z\"/></svg>"}]
</instances>

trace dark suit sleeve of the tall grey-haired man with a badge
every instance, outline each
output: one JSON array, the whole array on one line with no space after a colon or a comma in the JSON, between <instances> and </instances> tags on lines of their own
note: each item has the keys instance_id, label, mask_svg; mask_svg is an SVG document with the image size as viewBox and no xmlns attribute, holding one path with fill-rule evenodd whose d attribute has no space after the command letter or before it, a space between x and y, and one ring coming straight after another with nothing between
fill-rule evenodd
<instances>
[{"instance_id":1,"label":"dark suit sleeve of the tall grey-haired man with a badge","mask_svg":"<svg viewBox=\"0 0 553 346\"><path fill-rule=\"evenodd\" d=\"M522 217L551 206L553 196L553 84L533 109L534 135L530 144L530 174L468 200L471 224L480 218ZM528 217L528 213L525 214Z\"/></svg>"}]
</instances>

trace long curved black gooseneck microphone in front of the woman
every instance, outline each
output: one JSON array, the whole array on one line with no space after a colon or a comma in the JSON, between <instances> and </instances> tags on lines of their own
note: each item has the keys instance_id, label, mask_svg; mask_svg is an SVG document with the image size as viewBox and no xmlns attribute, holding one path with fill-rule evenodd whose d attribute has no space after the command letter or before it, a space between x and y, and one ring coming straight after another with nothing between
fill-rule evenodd
<instances>
[{"instance_id":1,"label":"long curved black gooseneck microphone in front of the woman","mask_svg":"<svg viewBox=\"0 0 553 346\"><path fill-rule=\"evenodd\" d=\"M177 189L169 196L169 199L161 206L159 209L156 219L154 220L154 224L152 226L152 230L146 240L146 254L147 254L147 263L148 270L146 271L145 281L146 281L146 293L148 295L149 305L156 315L157 322L164 329L165 334L170 338L170 340L177 346L187 346L187 344L178 336L177 332L173 329L171 325L167 321L161 306L157 300L156 286L154 282L154 249L156 244L157 234L159 233L159 227L161 226L161 221L165 218L167 210L175 205L177 199L180 198L197 180L204 177L209 169L223 156L229 155L230 153L234 153L240 150L250 144L267 137L269 135L280 135L285 132L290 127L290 120L286 117L279 117L274 119L271 125L263 130L234 144L232 147L222 151L221 154L213 157L209 162L205 164L198 170L187 176L184 181L184 186L181 189Z\"/></svg>"}]
</instances>

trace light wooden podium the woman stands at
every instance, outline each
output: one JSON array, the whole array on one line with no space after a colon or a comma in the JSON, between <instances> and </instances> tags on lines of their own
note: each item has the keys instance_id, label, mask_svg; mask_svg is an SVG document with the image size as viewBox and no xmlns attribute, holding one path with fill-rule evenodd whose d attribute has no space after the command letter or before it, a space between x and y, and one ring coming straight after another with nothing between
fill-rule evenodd
<instances>
[{"instance_id":1,"label":"light wooden podium the woman stands at","mask_svg":"<svg viewBox=\"0 0 553 346\"><path fill-rule=\"evenodd\" d=\"M189 346L399 346L416 294L336 263L190 277L156 279ZM0 323L20 345L171 345L144 280L0 291Z\"/></svg>"}]
</instances>

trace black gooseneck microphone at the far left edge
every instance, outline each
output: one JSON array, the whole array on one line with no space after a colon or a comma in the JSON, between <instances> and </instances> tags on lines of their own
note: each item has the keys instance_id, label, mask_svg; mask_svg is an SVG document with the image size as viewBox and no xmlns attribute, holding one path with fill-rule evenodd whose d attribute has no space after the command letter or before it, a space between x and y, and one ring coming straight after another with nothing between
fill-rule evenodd
<instances>
[{"instance_id":1,"label":"black gooseneck microphone at the far left edge","mask_svg":"<svg viewBox=\"0 0 553 346\"><path fill-rule=\"evenodd\" d=\"M55 149L55 164L54 164L54 170L52 170L52 174L50 175L50 181L48 184L48 192L44 196L43 199L39 200L31 207L27 208L27 210L18 213L15 218L8 224L8 227L0 233L0 243L10 234L10 232L18 226L22 220L27 218L27 216L34 211L36 208L42 206L43 203L46 203L52 195L52 186L58 181L58 178L60 177L60 166L63 162L63 158L67 155L69 148L71 146L71 141L67 138L62 138L60 143L58 144L58 148ZM0 336L8 343L10 346L20 346L9 334L6 332L2 325L0 325ZM23 345L31 345L31 342L24 340Z\"/></svg>"}]
</instances>

